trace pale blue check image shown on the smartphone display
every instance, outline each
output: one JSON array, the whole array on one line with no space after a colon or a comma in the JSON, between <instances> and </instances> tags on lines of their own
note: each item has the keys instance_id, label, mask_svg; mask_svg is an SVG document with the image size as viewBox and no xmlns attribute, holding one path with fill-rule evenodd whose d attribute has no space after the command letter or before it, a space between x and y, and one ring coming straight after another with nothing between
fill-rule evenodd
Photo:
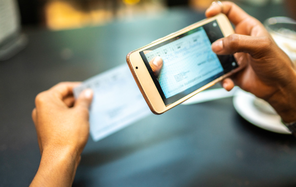
<instances>
[{"instance_id":1,"label":"pale blue check image shown on the smartphone display","mask_svg":"<svg viewBox=\"0 0 296 187\"><path fill-rule=\"evenodd\" d=\"M163 60L158 82L166 98L223 72L204 28L187 34L145 54L149 62L156 56Z\"/></svg>"}]
</instances>

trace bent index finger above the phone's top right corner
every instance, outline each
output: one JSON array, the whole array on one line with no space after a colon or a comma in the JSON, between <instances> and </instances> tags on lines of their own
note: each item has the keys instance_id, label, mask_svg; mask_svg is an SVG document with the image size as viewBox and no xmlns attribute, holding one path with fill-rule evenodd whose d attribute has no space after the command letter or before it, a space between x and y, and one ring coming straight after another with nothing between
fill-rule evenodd
<instances>
[{"instance_id":1,"label":"bent index finger above the phone's top right corner","mask_svg":"<svg viewBox=\"0 0 296 187\"><path fill-rule=\"evenodd\" d=\"M219 13L223 13L227 18L233 22L233 24L238 25L245 19L252 18L245 11L243 11L239 6L232 2L213 2L212 5L206 10L206 17L212 17Z\"/></svg>"}]
</instances>

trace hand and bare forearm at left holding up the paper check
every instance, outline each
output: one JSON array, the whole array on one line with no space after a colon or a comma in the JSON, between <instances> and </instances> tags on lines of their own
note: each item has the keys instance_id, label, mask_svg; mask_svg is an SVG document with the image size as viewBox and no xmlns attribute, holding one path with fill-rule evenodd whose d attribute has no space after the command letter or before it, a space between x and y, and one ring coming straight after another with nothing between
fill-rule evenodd
<instances>
[{"instance_id":1,"label":"hand and bare forearm at left holding up the paper check","mask_svg":"<svg viewBox=\"0 0 296 187\"><path fill-rule=\"evenodd\" d=\"M72 186L88 139L88 108L93 95L87 89L75 101L73 88L79 84L62 82L36 97L32 118L42 156L30 186Z\"/></svg>"}]
</instances>

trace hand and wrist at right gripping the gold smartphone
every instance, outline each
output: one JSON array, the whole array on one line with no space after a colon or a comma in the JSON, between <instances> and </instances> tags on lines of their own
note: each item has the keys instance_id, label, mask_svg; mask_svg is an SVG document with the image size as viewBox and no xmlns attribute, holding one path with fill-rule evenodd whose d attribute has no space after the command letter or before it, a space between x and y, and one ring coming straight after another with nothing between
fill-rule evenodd
<instances>
[{"instance_id":1,"label":"hand and wrist at right gripping the gold smartphone","mask_svg":"<svg viewBox=\"0 0 296 187\"><path fill-rule=\"evenodd\" d=\"M235 54L245 68L222 81L226 90L234 84L269 102L284 121L296 120L296 72L289 57L276 45L258 20L232 2L213 3L206 17L225 14L235 34L218 39L212 50L218 55Z\"/></svg>"}]
</instances>

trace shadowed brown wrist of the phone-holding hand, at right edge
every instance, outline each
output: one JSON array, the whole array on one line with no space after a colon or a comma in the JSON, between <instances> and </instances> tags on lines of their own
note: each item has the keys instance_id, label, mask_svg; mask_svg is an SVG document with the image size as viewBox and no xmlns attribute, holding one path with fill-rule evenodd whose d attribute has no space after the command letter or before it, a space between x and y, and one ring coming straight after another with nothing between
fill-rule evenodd
<instances>
[{"instance_id":1,"label":"shadowed brown wrist of the phone-holding hand, at right edge","mask_svg":"<svg viewBox=\"0 0 296 187\"><path fill-rule=\"evenodd\" d=\"M290 80L287 85L279 86L278 91L267 100L285 123L296 121L296 72Z\"/></svg>"}]
</instances>

